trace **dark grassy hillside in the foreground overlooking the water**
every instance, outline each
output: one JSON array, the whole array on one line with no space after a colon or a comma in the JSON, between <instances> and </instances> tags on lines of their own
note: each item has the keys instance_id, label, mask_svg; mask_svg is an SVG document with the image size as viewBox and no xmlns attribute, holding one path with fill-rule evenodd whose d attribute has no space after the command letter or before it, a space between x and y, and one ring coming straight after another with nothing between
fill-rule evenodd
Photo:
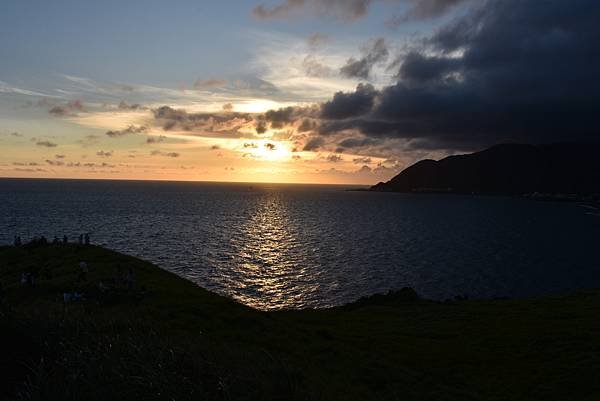
<instances>
[{"instance_id":1,"label":"dark grassy hillside in the foreground overlooking the water","mask_svg":"<svg viewBox=\"0 0 600 401\"><path fill-rule=\"evenodd\" d=\"M598 291L267 313L62 244L0 248L0 282L0 399L600 399Z\"/></svg>"}]
</instances>

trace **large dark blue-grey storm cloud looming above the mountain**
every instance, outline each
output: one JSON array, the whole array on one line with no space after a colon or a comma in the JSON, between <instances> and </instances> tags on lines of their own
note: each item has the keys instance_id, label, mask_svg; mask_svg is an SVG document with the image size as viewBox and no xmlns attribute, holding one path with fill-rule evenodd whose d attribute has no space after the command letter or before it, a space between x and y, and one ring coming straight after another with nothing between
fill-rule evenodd
<instances>
[{"instance_id":1,"label":"large dark blue-grey storm cloud looming above the mountain","mask_svg":"<svg viewBox=\"0 0 600 401\"><path fill-rule=\"evenodd\" d=\"M412 149L598 140L600 3L478 3L404 57L398 82L337 93L319 131Z\"/></svg>"}]
</instances>

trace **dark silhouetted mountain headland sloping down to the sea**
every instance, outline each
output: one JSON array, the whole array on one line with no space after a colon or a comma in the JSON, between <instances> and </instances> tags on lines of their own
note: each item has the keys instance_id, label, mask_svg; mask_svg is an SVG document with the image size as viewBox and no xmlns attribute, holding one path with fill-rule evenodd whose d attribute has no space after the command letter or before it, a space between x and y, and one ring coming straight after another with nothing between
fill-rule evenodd
<instances>
[{"instance_id":1,"label":"dark silhouetted mountain headland sloping down to the sea","mask_svg":"<svg viewBox=\"0 0 600 401\"><path fill-rule=\"evenodd\" d=\"M600 143L502 144L439 161L421 160L371 190L597 194Z\"/></svg>"}]
</instances>

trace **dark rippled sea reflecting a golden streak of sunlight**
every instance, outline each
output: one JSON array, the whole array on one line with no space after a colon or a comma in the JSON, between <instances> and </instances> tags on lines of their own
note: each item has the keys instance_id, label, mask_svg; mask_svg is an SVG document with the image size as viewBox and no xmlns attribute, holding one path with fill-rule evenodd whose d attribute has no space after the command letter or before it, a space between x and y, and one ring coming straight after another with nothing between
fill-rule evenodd
<instances>
[{"instance_id":1,"label":"dark rippled sea reflecting a golden streak of sunlight","mask_svg":"<svg viewBox=\"0 0 600 401\"><path fill-rule=\"evenodd\" d=\"M0 180L0 244L92 241L262 308L405 286L444 299L600 287L600 217L503 197L340 186Z\"/></svg>"}]
</instances>

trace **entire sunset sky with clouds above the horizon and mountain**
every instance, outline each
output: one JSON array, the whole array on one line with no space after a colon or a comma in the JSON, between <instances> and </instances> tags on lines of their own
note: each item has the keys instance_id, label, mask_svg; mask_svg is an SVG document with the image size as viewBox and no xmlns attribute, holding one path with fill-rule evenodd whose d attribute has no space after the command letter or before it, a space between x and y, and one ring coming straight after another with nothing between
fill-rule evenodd
<instances>
[{"instance_id":1,"label":"entire sunset sky with clouds above the horizon and mountain","mask_svg":"<svg viewBox=\"0 0 600 401\"><path fill-rule=\"evenodd\" d=\"M4 0L0 176L375 184L597 141L592 0Z\"/></svg>"}]
</instances>

